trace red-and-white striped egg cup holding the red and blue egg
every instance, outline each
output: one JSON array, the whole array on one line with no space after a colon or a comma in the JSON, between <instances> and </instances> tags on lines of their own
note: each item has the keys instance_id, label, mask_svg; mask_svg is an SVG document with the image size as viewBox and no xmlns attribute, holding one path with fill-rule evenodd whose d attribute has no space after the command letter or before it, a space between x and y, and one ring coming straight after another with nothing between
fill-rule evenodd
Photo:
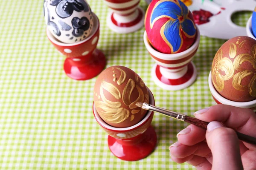
<instances>
[{"instance_id":1,"label":"red-and-white striped egg cup holding the red and blue egg","mask_svg":"<svg viewBox=\"0 0 256 170\"><path fill-rule=\"evenodd\" d=\"M197 71L192 59L198 50L199 42L200 32L197 27L195 42L190 48L176 54L164 54L152 47L145 31L145 46L157 63L151 72L154 82L161 88L170 91L181 90L192 85L197 77Z\"/></svg>"}]
</instances>

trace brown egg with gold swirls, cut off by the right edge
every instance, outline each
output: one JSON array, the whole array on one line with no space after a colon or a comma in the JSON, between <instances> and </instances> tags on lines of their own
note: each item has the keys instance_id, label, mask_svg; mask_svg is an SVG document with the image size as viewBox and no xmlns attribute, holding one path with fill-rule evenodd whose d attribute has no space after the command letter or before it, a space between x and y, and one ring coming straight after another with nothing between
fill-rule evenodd
<instances>
[{"instance_id":1,"label":"brown egg with gold swirls, cut off by the right edge","mask_svg":"<svg viewBox=\"0 0 256 170\"><path fill-rule=\"evenodd\" d=\"M231 101L256 99L256 40L239 36L225 42L212 62L212 83Z\"/></svg>"}]
</instances>

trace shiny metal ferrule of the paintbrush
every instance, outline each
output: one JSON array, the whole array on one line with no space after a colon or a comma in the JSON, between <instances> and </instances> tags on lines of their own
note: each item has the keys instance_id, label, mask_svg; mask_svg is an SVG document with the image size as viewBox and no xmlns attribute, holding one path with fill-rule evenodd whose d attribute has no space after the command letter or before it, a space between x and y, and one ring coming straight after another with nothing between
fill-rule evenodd
<instances>
[{"instance_id":1,"label":"shiny metal ferrule of the paintbrush","mask_svg":"<svg viewBox=\"0 0 256 170\"><path fill-rule=\"evenodd\" d=\"M154 112L161 113L163 115L166 115L166 116L171 117L173 119L181 120L183 122L184 122L185 117L186 117L186 115L184 115L184 114L177 113L177 112L174 112L174 111L169 111L169 110L163 109L163 108L158 108L156 106L152 106L152 105L149 105L147 103L143 103L142 108L146 109L146 110L149 110L149 111L154 111Z\"/></svg>"}]
</instances>

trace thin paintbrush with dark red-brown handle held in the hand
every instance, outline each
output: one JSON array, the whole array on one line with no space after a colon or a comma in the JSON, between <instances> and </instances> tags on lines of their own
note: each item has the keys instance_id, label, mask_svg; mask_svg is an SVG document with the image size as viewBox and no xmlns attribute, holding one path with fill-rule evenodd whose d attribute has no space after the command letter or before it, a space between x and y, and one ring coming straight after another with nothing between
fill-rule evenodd
<instances>
[{"instance_id":1,"label":"thin paintbrush with dark red-brown handle held in the hand","mask_svg":"<svg viewBox=\"0 0 256 170\"><path fill-rule=\"evenodd\" d=\"M184 114L181 114L181 113L177 113L175 111L169 111L167 109L159 108L159 107L156 107L154 105L149 105L148 103L138 102L138 103L136 103L136 105L140 108L143 108L144 110L161 113L161 114L166 115L168 117L171 117L171 118L174 118L174 119L177 119L177 120L181 120L183 122L188 122L192 125L196 125L198 127L204 128L204 129L207 129L207 125L209 124L209 122L204 122L202 120L199 120L199 119L196 119L194 117L190 117L190 116L187 116L187 115L184 115ZM247 142L247 143L250 143L250 144L256 144L256 138L254 138L252 136L245 135L243 133L239 133L239 132L236 132L236 134L237 134L238 138L241 141L244 141L244 142Z\"/></svg>"}]
</instances>

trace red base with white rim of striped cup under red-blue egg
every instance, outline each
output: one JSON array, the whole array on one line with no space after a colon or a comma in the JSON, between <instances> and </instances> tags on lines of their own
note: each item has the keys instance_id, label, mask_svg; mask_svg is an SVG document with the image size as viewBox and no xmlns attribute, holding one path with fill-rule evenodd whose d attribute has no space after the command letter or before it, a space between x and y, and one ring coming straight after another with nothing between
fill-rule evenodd
<instances>
[{"instance_id":1,"label":"red base with white rim of striped cup under red-blue egg","mask_svg":"<svg viewBox=\"0 0 256 170\"><path fill-rule=\"evenodd\" d=\"M163 88L165 90L177 91L187 88L195 82L197 77L197 71L193 62L190 62L189 65L184 67L181 71L171 73L173 77L179 77L177 79L167 78L166 75L161 73L160 67L160 65L155 64L151 71L151 76L153 78L153 81L160 88ZM182 76L180 77L180 72L184 71L185 74L181 73ZM172 77L172 75L169 75L168 77Z\"/></svg>"}]
</instances>

